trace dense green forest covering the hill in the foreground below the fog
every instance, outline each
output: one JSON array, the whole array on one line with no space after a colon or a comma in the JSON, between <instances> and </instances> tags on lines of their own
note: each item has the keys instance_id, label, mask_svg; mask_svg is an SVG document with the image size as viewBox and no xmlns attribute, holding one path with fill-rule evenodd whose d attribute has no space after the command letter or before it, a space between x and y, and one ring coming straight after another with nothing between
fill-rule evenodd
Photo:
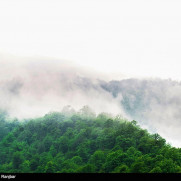
<instances>
[{"instance_id":1,"label":"dense green forest covering the hill in the foreground below the fog","mask_svg":"<svg viewBox=\"0 0 181 181\"><path fill-rule=\"evenodd\" d=\"M181 149L88 107L18 121L0 114L1 173L180 173Z\"/></svg>"}]
</instances>

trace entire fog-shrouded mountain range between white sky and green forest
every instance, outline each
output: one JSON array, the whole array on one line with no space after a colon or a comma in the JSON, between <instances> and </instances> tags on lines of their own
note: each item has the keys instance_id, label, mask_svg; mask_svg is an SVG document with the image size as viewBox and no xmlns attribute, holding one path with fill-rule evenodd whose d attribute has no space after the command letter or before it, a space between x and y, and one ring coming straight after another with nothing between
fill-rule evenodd
<instances>
[{"instance_id":1,"label":"entire fog-shrouded mountain range between white sky and green forest","mask_svg":"<svg viewBox=\"0 0 181 181\"><path fill-rule=\"evenodd\" d=\"M106 80L73 65L54 61L2 64L0 108L20 119L88 105L96 113L135 119L180 146L181 84L164 79Z\"/></svg>"}]
</instances>

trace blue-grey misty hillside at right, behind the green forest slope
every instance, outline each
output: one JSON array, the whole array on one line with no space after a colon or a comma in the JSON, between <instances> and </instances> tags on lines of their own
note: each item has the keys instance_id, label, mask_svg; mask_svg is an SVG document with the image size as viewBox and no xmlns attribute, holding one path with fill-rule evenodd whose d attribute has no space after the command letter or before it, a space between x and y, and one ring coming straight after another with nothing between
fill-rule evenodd
<instances>
[{"instance_id":1,"label":"blue-grey misty hillside at right, behind the green forest slope","mask_svg":"<svg viewBox=\"0 0 181 181\"><path fill-rule=\"evenodd\" d=\"M174 145L181 146L181 83L161 79L125 79L100 82L124 111L150 131L159 132ZM120 96L121 95L121 96Z\"/></svg>"}]
</instances>

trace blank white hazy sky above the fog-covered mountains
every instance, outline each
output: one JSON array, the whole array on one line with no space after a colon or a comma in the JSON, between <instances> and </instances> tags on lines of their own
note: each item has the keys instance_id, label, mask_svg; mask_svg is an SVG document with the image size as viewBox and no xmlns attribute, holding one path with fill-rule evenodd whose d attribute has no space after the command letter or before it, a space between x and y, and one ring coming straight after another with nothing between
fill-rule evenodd
<instances>
[{"instance_id":1,"label":"blank white hazy sky above the fog-covered mountains","mask_svg":"<svg viewBox=\"0 0 181 181\"><path fill-rule=\"evenodd\" d=\"M176 0L1 0L0 54L181 80L180 7Z\"/></svg>"}]
</instances>

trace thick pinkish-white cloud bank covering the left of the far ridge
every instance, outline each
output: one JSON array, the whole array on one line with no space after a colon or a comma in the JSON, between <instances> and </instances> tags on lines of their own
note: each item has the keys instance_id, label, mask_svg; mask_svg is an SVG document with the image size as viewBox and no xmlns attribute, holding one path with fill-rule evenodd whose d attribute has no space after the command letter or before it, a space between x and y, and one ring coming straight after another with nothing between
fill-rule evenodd
<instances>
[{"instance_id":1,"label":"thick pinkish-white cloud bank covering the left of the far ridge","mask_svg":"<svg viewBox=\"0 0 181 181\"><path fill-rule=\"evenodd\" d=\"M95 74L66 61L4 58L0 72L0 108L10 116L42 116L66 105L76 110L88 105L96 113L126 116L120 97L102 89Z\"/></svg>"}]
</instances>

